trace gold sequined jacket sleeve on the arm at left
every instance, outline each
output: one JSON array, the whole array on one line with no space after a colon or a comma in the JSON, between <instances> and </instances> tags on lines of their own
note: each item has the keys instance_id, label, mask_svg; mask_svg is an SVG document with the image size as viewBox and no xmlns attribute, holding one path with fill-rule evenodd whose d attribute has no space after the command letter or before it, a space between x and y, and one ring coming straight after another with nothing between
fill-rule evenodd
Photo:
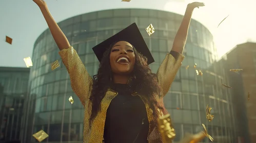
<instances>
[{"instance_id":1,"label":"gold sequined jacket sleeve on the arm at left","mask_svg":"<svg viewBox=\"0 0 256 143\"><path fill-rule=\"evenodd\" d=\"M85 106L85 102L89 100L92 88L91 76L88 74L83 62L72 46L68 49L61 50L58 54L60 54L68 70L73 91Z\"/></svg>"}]
</instances>

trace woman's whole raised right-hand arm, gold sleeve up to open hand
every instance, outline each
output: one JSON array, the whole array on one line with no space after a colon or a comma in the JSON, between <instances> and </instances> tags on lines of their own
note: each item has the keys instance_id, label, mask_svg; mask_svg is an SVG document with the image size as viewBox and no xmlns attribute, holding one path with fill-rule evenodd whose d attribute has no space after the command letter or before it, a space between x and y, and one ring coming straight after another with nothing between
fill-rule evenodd
<instances>
[{"instance_id":1,"label":"woman's whole raised right-hand arm, gold sleeve up to open hand","mask_svg":"<svg viewBox=\"0 0 256 143\"><path fill-rule=\"evenodd\" d=\"M181 26L174 38L172 49L170 53L166 55L164 61L157 70L157 77L159 84L162 87L163 96L165 96L170 89L171 84L181 67L181 62L184 59L182 53L187 41L188 28L193 9L202 6L204 6L204 4L198 2L188 4Z\"/></svg>"}]
</instances>

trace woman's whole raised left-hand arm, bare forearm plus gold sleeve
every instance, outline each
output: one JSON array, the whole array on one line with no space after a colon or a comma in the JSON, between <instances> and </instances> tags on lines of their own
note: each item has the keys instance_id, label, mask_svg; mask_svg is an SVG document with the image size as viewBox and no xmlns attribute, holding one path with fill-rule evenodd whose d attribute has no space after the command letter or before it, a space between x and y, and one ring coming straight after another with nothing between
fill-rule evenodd
<instances>
[{"instance_id":1,"label":"woman's whole raised left-hand arm, bare forearm plus gold sleeve","mask_svg":"<svg viewBox=\"0 0 256 143\"><path fill-rule=\"evenodd\" d=\"M62 57L62 61L68 70L71 87L82 104L85 106L86 101L88 101L90 97L92 78L88 74L76 51L72 46L70 46L68 39L51 16L46 3L43 0L33 1L38 5L38 7L40 7L47 25L51 31L52 37L55 40L58 49L61 50L59 54Z\"/></svg>"}]
</instances>

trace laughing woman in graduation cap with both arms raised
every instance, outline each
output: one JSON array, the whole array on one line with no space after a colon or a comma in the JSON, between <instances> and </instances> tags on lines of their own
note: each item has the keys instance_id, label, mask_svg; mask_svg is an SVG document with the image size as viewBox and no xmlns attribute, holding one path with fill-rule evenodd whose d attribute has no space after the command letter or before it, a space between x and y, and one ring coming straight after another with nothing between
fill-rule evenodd
<instances>
[{"instance_id":1,"label":"laughing woman in graduation cap with both arms raised","mask_svg":"<svg viewBox=\"0 0 256 143\"><path fill-rule=\"evenodd\" d=\"M70 75L71 87L84 105L84 142L163 142L156 120L167 114L163 97L168 92L181 62L193 9L188 5L172 50L157 74L149 68L153 57L133 23L93 51L100 60L97 75L90 77L54 21L43 0L33 0L41 9ZM183 141L189 142L193 136Z\"/></svg>"}]
</instances>

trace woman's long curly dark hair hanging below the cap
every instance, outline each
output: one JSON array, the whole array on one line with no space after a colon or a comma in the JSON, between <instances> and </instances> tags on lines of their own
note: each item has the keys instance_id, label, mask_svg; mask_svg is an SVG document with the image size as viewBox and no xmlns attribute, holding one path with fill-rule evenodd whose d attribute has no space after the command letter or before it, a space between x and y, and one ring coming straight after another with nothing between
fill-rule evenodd
<instances>
[{"instance_id":1,"label":"woman's long curly dark hair hanging below the cap","mask_svg":"<svg viewBox=\"0 0 256 143\"><path fill-rule=\"evenodd\" d=\"M91 123L96 117L97 113L101 110L101 101L105 96L108 88L111 87L112 71L110 67L110 53L113 45L112 43L108 50L104 53L101 60L99 70L97 75L93 76L92 92L90 96L90 101L92 102L92 111L89 119L90 127ZM128 82L134 91L144 96L150 103L150 108L153 110L153 117L156 123L157 119L157 108L162 108L157 105L157 98L161 95L161 87L158 84L156 74L153 74L150 67L147 64L147 58L141 53L137 52L133 47L135 54L135 63L133 72L130 75L130 80Z\"/></svg>"}]
</instances>

